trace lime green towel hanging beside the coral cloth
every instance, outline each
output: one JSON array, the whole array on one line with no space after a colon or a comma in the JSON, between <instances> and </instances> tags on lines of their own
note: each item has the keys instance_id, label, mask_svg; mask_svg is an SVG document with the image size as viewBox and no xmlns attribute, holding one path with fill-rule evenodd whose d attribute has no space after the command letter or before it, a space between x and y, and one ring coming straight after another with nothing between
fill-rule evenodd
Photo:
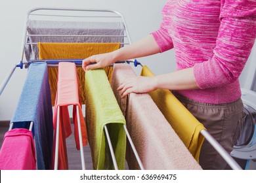
<instances>
[{"instance_id":1,"label":"lime green towel hanging beside the coral cloth","mask_svg":"<svg viewBox=\"0 0 256 183\"><path fill-rule=\"evenodd\" d=\"M125 117L119 108L116 97L103 69L85 73L85 119L93 158L94 169L114 169L104 125L116 156L118 169L125 169L126 135L123 129Z\"/></svg>"}]
</instances>

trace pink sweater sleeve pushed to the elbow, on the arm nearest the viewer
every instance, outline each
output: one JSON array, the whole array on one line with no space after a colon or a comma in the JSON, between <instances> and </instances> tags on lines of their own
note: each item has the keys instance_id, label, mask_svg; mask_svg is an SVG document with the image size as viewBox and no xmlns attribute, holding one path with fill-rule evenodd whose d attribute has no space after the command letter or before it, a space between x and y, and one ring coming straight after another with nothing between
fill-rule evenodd
<instances>
[{"instance_id":1,"label":"pink sweater sleeve pushed to the elbow, on the arm nearest the viewer","mask_svg":"<svg viewBox=\"0 0 256 183\"><path fill-rule=\"evenodd\" d=\"M201 89L230 84L242 73L255 42L256 1L222 0L219 19L213 57L194 65Z\"/></svg>"}]
</instances>

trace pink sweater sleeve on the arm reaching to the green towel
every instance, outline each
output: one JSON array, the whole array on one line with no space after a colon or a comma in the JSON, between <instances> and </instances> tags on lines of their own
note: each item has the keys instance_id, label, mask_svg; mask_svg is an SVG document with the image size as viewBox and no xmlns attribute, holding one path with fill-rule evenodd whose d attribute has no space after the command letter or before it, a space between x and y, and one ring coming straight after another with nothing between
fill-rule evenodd
<instances>
[{"instance_id":1,"label":"pink sweater sleeve on the arm reaching to the green towel","mask_svg":"<svg viewBox=\"0 0 256 183\"><path fill-rule=\"evenodd\" d=\"M173 41L168 33L168 28L167 28L168 24L166 21L166 12L165 12L166 10L168 10L167 6L168 5L166 4L162 10L162 22L160 24L160 28L157 31L154 31L153 33L151 33L156 43L160 47L161 52L165 52L173 48Z\"/></svg>"}]
</instances>

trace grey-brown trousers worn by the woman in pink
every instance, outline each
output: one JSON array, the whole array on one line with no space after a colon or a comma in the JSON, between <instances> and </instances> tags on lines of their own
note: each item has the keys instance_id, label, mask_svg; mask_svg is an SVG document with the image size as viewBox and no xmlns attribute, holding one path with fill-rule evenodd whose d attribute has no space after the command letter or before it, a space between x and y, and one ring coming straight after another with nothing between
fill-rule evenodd
<instances>
[{"instance_id":1,"label":"grey-brown trousers worn by the woman in pink","mask_svg":"<svg viewBox=\"0 0 256 183\"><path fill-rule=\"evenodd\" d=\"M242 99L232 103L214 105L193 101L177 92L173 93L216 141L230 153L244 125L245 114ZM199 163L202 169L209 170L223 170L227 165L221 155L206 140L200 151Z\"/></svg>"}]
</instances>

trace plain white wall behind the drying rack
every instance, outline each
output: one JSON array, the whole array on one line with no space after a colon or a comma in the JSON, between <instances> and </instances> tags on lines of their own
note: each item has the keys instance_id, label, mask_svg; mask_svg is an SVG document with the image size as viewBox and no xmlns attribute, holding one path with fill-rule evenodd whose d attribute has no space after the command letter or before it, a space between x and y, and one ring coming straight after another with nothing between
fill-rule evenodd
<instances>
[{"instance_id":1,"label":"plain white wall behind the drying rack","mask_svg":"<svg viewBox=\"0 0 256 183\"><path fill-rule=\"evenodd\" d=\"M165 0L0 0L0 84L21 59L24 24L28 10L35 7L100 8L121 12L127 22L132 42L158 29ZM173 71L173 52L138 59L156 75ZM0 96L0 121L11 120L26 78L26 69L17 68Z\"/></svg>"}]
</instances>

